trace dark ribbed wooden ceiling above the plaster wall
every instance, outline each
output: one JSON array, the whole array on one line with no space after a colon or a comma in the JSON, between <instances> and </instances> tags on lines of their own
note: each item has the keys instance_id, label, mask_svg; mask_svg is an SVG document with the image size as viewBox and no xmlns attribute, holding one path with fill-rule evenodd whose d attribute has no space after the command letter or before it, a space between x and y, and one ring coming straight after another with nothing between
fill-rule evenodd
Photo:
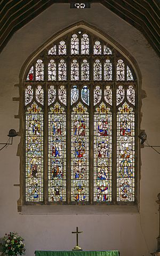
<instances>
[{"instance_id":1,"label":"dark ribbed wooden ceiling above the plaster wall","mask_svg":"<svg viewBox=\"0 0 160 256\"><path fill-rule=\"evenodd\" d=\"M101 3L123 20L137 28L160 56L160 1L159 0L1 0L0 1L0 52L11 36L47 7L54 3Z\"/></svg>"}]
</instances>

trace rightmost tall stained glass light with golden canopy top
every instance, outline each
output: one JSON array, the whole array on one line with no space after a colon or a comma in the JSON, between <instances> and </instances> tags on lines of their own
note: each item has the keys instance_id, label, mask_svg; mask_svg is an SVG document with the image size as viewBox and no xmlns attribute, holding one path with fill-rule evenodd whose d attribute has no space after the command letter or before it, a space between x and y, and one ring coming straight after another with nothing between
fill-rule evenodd
<instances>
[{"instance_id":1,"label":"rightmost tall stained glass light with golden canopy top","mask_svg":"<svg viewBox=\"0 0 160 256\"><path fill-rule=\"evenodd\" d=\"M117 201L134 201L135 122L126 102L117 112Z\"/></svg>"}]
</instances>

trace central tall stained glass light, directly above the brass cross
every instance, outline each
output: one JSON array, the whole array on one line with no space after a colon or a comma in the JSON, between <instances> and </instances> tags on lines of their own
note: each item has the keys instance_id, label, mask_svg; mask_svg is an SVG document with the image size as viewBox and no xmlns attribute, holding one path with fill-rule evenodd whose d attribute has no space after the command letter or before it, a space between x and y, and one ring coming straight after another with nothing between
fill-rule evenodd
<instances>
[{"instance_id":1,"label":"central tall stained glass light, directly above the brass cross","mask_svg":"<svg viewBox=\"0 0 160 256\"><path fill-rule=\"evenodd\" d=\"M89 201L89 113L80 102L71 113L71 201Z\"/></svg>"}]
</instances>

